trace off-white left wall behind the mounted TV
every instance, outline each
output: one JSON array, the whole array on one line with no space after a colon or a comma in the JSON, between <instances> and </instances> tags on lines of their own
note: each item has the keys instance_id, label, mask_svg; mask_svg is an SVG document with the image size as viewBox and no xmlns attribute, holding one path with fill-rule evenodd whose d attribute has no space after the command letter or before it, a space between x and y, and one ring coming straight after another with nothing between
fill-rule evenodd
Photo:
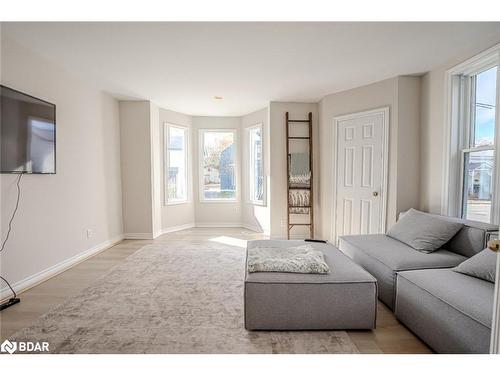
<instances>
[{"instance_id":1,"label":"off-white left wall behind the mounted TV","mask_svg":"<svg viewBox=\"0 0 500 375\"><path fill-rule=\"evenodd\" d=\"M5 31L1 83L57 106L57 174L22 177L19 211L0 255L2 276L19 287L30 276L121 238L118 103L8 39ZM16 176L0 179L3 239ZM94 232L90 239L87 229Z\"/></svg>"}]
</instances>

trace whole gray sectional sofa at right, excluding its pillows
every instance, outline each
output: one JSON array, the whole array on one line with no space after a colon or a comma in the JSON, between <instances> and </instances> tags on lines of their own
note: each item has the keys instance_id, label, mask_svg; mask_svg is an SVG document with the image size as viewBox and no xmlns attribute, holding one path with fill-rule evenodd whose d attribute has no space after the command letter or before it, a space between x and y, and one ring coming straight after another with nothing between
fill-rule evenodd
<instances>
[{"instance_id":1,"label":"whole gray sectional sofa at right, excluding its pillows","mask_svg":"<svg viewBox=\"0 0 500 375\"><path fill-rule=\"evenodd\" d=\"M487 353L494 284L451 268L481 252L498 227L462 223L439 250L424 253L383 234L340 238L339 248L378 281L379 299L438 353Z\"/></svg>"}]
</instances>

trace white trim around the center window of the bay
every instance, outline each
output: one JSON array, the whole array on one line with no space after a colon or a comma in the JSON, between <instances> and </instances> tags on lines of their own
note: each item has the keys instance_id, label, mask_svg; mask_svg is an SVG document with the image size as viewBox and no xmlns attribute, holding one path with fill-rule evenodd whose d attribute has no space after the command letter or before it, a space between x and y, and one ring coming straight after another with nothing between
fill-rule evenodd
<instances>
[{"instance_id":1,"label":"white trim around the center window of the bay","mask_svg":"<svg viewBox=\"0 0 500 375\"><path fill-rule=\"evenodd\" d=\"M204 133L233 133L234 142L234 171L236 179L236 194L234 198L215 198L206 199L203 191L203 140ZM201 203L239 203L240 202L240 172L239 172L239 154L238 154L238 131L234 128L208 128L198 130L198 193Z\"/></svg>"}]
</instances>

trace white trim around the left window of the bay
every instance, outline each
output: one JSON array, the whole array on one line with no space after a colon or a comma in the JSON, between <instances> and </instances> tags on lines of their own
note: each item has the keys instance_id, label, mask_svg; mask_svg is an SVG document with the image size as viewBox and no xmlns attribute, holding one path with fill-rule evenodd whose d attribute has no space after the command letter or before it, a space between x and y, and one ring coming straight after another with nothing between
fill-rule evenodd
<instances>
[{"instance_id":1,"label":"white trim around the left window of the bay","mask_svg":"<svg viewBox=\"0 0 500 375\"><path fill-rule=\"evenodd\" d=\"M186 161L186 199L169 199L168 197L168 170L170 166L169 160L169 144L170 144L170 128L182 129L185 131L186 136L184 137L184 160ZM191 168L190 168L190 160L189 160L189 127L183 125L172 124L170 122L163 123L163 152L164 152L164 162L165 167L163 170L164 179L163 179L163 190L165 195L164 205L165 206L175 206L179 204L187 204L190 203L191 189L190 189L190 178Z\"/></svg>"}]
</instances>

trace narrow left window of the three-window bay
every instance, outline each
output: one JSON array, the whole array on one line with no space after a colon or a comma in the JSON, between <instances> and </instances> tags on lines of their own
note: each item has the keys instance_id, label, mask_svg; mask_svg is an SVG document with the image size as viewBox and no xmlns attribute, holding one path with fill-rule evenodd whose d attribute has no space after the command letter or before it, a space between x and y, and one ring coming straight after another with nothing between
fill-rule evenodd
<instances>
[{"instance_id":1,"label":"narrow left window of the three-window bay","mask_svg":"<svg viewBox=\"0 0 500 375\"><path fill-rule=\"evenodd\" d=\"M165 134L165 144L167 145L165 171L167 204L184 203L188 200L188 129L167 124Z\"/></svg>"}]
</instances>

